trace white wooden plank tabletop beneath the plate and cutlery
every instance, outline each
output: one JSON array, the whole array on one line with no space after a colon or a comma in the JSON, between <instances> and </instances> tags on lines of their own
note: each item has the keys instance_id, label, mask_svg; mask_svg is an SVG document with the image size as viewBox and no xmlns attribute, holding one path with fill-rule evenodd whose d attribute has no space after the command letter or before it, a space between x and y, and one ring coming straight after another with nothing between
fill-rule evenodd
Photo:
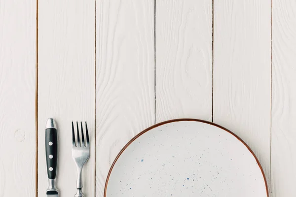
<instances>
[{"instance_id":1,"label":"white wooden plank tabletop beneath the plate and cutlery","mask_svg":"<svg viewBox=\"0 0 296 197\"><path fill-rule=\"evenodd\" d=\"M61 197L75 193L71 120L90 131L83 191L103 197L130 138L185 117L235 132L270 196L294 197L296 1L0 0L0 196L44 197L49 117Z\"/></svg>"}]
</instances>

